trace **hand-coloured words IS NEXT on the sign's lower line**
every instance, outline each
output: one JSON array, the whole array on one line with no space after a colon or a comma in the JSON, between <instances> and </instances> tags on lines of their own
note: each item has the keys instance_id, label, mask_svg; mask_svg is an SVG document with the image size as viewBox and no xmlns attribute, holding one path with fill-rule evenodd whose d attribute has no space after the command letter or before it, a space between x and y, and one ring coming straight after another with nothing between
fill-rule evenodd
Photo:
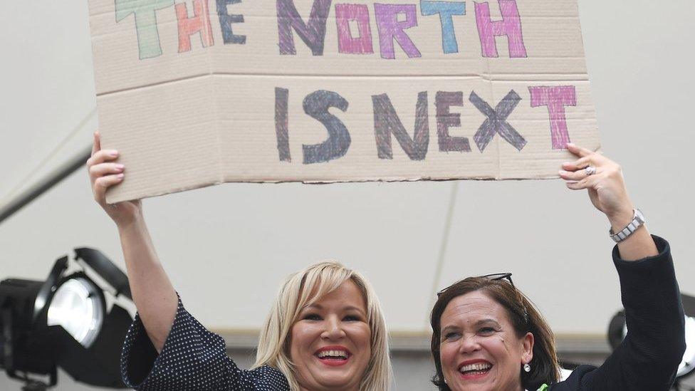
<instances>
[{"instance_id":1,"label":"hand-coloured words IS NEXT on the sign's lower line","mask_svg":"<svg viewBox=\"0 0 695 391\"><path fill-rule=\"evenodd\" d=\"M529 87L531 92L531 107L546 106L550 114L550 138L553 149L563 149L570 142L565 119L565 106L576 106L575 87L560 85L555 87ZM275 131L278 142L278 155L281 161L290 162L289 126L288 126L289 90L275 89ZM392 159L393 151L391 137L395 137L410 160L424 160L429 147L429 115L427 91L417 94L415 108L415 124L413 137L410 137L391 100L387 94L372 95L374 110L374 135L377 154L380 159ZM511 90L493 108L474 92L469 96L473 105L486 116L473 139L476 146L483 152L495 135L500 135L506 142L523 150L526 139L507 118L516 108L521 97ZM462 92L438 91L435 97L437 109L437 139L440 152L471 152L467 137L452 137L449 127L461 126L461 115L451 113L451 106L462 106ZM351 138L348 128L337 116L328 112L329 108L338 108L343 112L348 110L348 100L339 93L328 90L316 90L303 100L304 112L318 120L328 131L328 138L319 144L303 145L303 163L312 164L328 162L343 157L350 147Z\"/></svg>"}]
</instances>

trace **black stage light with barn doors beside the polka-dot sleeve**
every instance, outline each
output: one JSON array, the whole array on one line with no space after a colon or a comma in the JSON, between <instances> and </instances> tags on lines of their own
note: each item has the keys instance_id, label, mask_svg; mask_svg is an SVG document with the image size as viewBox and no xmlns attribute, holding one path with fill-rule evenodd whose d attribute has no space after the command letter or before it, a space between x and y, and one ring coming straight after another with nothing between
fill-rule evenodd
<instances>
[{"instance_id":1,"label":"black stage light with barn doors beside the polka-dot sleeve","mask_svg":"<svg viewBox=\"0 0 695 391\"><path fill-rule=\"evenodd\" d=\"M108 309L105 292L132 301L125 273L87 248L75 249L74 262L58 259L46 281L0 281L0 367L28 391L56 385L57 367L78 382L125 388L120 350L132 317L115 302Z\"/></svg>"}]
</instances>

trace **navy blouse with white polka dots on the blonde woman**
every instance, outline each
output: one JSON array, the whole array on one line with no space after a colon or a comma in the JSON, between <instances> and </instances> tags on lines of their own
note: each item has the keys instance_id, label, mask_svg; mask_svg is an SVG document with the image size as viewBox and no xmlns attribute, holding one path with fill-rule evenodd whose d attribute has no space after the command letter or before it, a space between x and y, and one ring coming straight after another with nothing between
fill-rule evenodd
<instances>
[{"instance_id":1,"label":"navy blouse with white polka dots on the blonde woman","mask_svg":"<svg viewBox=\"0 0 695 391\"><path fill-rule=\"evenodd\" d=\"M142 391L290 390L285 376L273 367L239 369L226 355L224 340L193 318L180 298L160 354L140 316L135 316L125 337L120 370L128 387Z\"/></svg>"}]
</instances>

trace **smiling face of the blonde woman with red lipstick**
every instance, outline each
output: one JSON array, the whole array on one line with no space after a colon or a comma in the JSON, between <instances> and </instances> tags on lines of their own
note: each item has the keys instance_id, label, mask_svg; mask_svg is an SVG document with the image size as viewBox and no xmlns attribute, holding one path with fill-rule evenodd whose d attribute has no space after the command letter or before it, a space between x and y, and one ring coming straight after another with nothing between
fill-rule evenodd
<instances>
[{"instance_id":1,"label":"smiling face of the blonde woman with red lipstick","mask_svg":"<svg viewBox=\"0 0 695 391\"><path fill-rule=\"evenodd\" d=\"M290 358L302 390L357 390L372 354L367 306L351 280L304 308L292 326Z\"/></svg>"}]
</instances>

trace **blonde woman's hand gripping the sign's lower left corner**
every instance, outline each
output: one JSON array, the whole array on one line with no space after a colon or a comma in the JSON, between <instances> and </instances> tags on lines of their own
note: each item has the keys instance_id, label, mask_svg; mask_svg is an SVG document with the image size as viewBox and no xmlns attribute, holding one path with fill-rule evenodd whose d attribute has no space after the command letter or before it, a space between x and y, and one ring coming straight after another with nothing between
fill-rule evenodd
<instances>
[{"instance_id":1,"label":"blonde woman's hand gripping the sign's lower left corner","mask_svg":"<svg viewBox=\"0 0 695 391\"><path fill-rule=\"evenodd\" d=\"M89 179L94 199L113 219L119 228L131 224L142 216L142 203L139 199L117 204L106 203L106 190L123 182L125 166L114 162L118 158L116 150L102 150L99 132L94 132L92 156L87 160Z\"/></svg>"}]
</instances>

